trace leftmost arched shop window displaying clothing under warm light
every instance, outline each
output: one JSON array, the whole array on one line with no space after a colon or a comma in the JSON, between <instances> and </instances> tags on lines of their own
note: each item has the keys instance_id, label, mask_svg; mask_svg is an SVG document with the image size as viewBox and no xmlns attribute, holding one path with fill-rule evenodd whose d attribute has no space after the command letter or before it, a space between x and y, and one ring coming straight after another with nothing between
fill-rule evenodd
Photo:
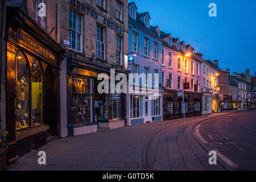
<instances>
[{"instance_id":1,"label":"leftmost arched shop window displaying clothing under warm light","mask_svg":"<svg viewBox=\"0 0 256 182\"><path fill-rule=\"evenodd\" d=\"M15 60L15 123L16 130L28 127L28 64L23 53Z\"/></svg>"}]
</instances>

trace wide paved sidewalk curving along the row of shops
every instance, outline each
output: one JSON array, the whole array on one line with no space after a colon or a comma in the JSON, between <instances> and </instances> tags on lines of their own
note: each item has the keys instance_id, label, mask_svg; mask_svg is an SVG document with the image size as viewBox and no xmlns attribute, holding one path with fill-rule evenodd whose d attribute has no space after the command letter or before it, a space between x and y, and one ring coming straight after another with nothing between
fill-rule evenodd
<instances>
[{"instance_id":1,"label":"wide paved sidewalk curving along the row of shops","mask_svg":"<svg viewBox=\"0 0 256 182\"><path fill-rule=\"evenodd\" d=\"M141 163L157 170L225 170L210 166L209 156L191 134L197 122L231 113L148 123L55 140L23 156L7 170L134 171ZM47 164L38 164L38 151L46 152Z\"/></svg>"}]
</instances>

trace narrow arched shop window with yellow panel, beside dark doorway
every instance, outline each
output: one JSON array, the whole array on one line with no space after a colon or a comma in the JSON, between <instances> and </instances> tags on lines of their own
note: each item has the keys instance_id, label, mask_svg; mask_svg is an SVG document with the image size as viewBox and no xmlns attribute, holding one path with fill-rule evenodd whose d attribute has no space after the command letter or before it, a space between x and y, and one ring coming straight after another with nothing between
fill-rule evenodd
<instances>
[{"instance_id":1,"label":"narrow arched shop window with yellow panel, beside dark doorway","mask_svg":"<svg viewBox=\"0 0 256 182\"><path fill-rule=\"evenodd\" d=\"M42 69L38 60L34 60L31 65L31 125L42 124Z\"/></svg>"}]
</instances>

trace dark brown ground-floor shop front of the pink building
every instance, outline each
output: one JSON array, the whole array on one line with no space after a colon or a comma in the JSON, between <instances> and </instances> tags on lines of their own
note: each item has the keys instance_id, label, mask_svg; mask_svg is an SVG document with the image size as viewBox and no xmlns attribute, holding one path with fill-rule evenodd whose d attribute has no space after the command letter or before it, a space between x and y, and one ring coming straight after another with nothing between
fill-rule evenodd
<instances>
[{"instance_id":1,"label":"dark brown ground-floor shop front of the pink building","mask_svg":"<svg viewBox=\"0 0 256 182\"><path fill-rule=\"evenodd\" d=\"M201 93L184 92L184 102L186 104L185 117L193 117L201 115ZM182 118L181 103L182 97L177 97L177 90L165 89L163 98L163 119L177 119Z\"/></svg>"}]
</instances>

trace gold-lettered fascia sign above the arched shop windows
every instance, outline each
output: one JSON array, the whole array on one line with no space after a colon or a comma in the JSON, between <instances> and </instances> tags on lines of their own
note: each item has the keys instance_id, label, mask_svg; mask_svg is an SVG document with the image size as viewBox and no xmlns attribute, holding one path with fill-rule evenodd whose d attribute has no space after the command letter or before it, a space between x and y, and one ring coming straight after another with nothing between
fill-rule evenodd
<instances>
[{"instance_id":1,"label":"gold-lettered fascia sign above the arched shop windows","mask_svg":"<svg viewBox=\"0 0 256 182\"><path fill-rule=\"evenodd\" d=\"M42 44L40 44L38 41L35 39L31 38L31 36L28 36L25 34L23 31L19 31L19 40L18 42L22 44L23 46L26 46L32 51L35 51L39 55L46 57L47 60L51 61L52 63L56 64L55 60L55 54L46 47L44 47Z\"/></svg>"}]
</instances>

